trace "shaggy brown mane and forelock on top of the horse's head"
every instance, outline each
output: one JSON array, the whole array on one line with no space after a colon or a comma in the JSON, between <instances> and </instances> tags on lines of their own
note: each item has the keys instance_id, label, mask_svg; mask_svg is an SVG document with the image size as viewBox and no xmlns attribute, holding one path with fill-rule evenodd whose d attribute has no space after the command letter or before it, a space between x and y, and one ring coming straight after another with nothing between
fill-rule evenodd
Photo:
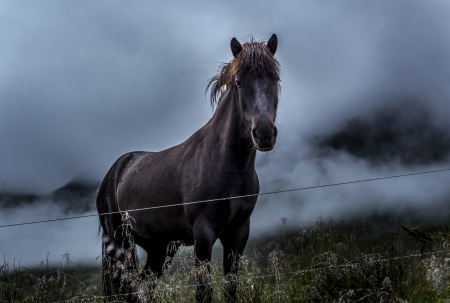
<instances>
[{"instance_id":1,"label":"shaggy brown mane and forelock on top of the horse's head","mask_svg":"<svg viewBox=\"0 0 450 303\"><path fill-rule=\"evenodd\" d=\"M233 87L234 76L240 71L251 71L256 75L269 74L275 78L280 76L280 63L270 52L264 41L247 38L242 44L242 51L229 63L223 63L217 74L208 81L206 91L211 88L211 106L218 105L222 94ZM278 84L278 91L280 85Z\"/></svg>"}]
</instances>

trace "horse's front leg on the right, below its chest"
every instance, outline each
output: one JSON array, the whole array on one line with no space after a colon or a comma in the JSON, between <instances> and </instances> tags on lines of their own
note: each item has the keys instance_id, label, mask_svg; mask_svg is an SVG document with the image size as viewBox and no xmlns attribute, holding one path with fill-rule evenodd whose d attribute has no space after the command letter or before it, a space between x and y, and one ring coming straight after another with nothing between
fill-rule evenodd
<instances>
[{"instance_id":1,"label":"horse's front leg on the right, below its chest","mask_svg":"<svg viewBox=\"0 0 450 303\"><path fill-rule=\"evenodd\" d=\"M220 235L223 246L223 273L227 279L226 299L236 302L239 259L244 252L250 232L250 219L239 227L229 227Z\"/></svg>"}]
</instances>

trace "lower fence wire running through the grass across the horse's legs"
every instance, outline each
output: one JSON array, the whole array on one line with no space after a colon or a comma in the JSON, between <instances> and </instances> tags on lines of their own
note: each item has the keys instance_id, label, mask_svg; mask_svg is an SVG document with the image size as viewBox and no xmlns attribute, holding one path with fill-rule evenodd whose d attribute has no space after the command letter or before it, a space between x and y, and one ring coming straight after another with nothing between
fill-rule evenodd
<instances>
[{"instance_id":1,"label":"lower fence wire running through the grass across the horse's legs","mask_svg":"<svg viewBox=\"0 0 450 303\"><path fill-rule=\"evenodd\" d=\"M368 263L372 263L372 264L383 263L383 262L388 262L388 261L395 261L395 260L407 259L407 258L418 258L418 257L427 256L427 255L435 255L435 254L449 253L449 252L450 252L450 249L438 250L438 251L432 251L432 252L427 252L427 253L411 254L411 255L406 255L406 256L398 256L398 257L385 258L385 259L375 259L375 260L370 260ZM299 274L308 273L308 272L339 269L339 268L345 268L345 267L356 268L357 266L360 266L362 264L363 263L361 263L361 262L348 262L346 264L341 264L341 265L330 265L330 266L323 266L323 267L317 267L317 268L300 269L300 270L289 271L289 272L281 272L281 273L274 273L274 274L267 274L267 275L251 276L251 277L246 277L246 278L238 278L238 279L234 279L233 281L241 282L241 281L245 281L245 280L263 279L263 278L270 278L270 277L277 277L277 276L299 275ZM204 283L204 284L189 284L189 285L183 285L183 286L177 286L177 287L166 287L166 288L164 288L164 290L177 290L177 289L197 287L197 286L217 285L219 283L220 282L210 282L210 283ZM139 295L139 294L143 294L143 292L132 292L132 293L119 294L119 295L109 295L109 296L92 296L92 297L84 297L84 298L72 298L69 300L54 301L52 303L92 301L92 300L96 300L96 299L108 299L108 298L114 298L114 297L124 297L124 296Z\"/></svg>"}]
</instances>

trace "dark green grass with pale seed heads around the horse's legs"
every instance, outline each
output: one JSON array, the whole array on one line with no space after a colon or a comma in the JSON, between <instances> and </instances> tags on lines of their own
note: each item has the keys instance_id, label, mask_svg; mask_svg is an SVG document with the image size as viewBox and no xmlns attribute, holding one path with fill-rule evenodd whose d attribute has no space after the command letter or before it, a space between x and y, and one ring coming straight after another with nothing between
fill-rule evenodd
<instances>
[{"instance_id":1,"label":"dark green grass with pale seed heads around the horse's legs","mask_svg":"<svg viewBox=\"0 0 450 303\"><path fill-rule=\"evenodd\" d=\"M450 302L449 252L398 258L450 249L449 225L427 230L395 225L383 233L373 227L369 221L318 219L311 228L290 229L284 221L273 235L249 243L237 277L238 301ZM195 302L193 260L192 249L183 248L160 279L136 282L144 289L152 285L156 302ZM102 302L89 299L102 294L100 269L74 269L69 255L57 270L6 261L0 267L2 303ZM225 302L221 258L210 268L213 302Z\"/></svg>"}]
</instances>

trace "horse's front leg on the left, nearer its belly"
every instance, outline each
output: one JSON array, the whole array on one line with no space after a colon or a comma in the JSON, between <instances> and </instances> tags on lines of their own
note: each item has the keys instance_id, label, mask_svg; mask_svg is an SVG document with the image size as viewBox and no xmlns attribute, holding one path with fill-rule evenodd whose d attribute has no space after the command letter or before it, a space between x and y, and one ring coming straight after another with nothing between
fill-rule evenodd
<instances>
[{"instance_id":1,"label":"horse's front leg on the left, nearer its belly","mask_svg":"<svg viewBox=\"0 0 450 303\"><path fill-rule=\"evenodd\" d=\"M197 302L209 303L212 300L211 254L217 237L211 224L197 221L194 225L195 262L197 266Z\"/></svg>"}]
</instances>

